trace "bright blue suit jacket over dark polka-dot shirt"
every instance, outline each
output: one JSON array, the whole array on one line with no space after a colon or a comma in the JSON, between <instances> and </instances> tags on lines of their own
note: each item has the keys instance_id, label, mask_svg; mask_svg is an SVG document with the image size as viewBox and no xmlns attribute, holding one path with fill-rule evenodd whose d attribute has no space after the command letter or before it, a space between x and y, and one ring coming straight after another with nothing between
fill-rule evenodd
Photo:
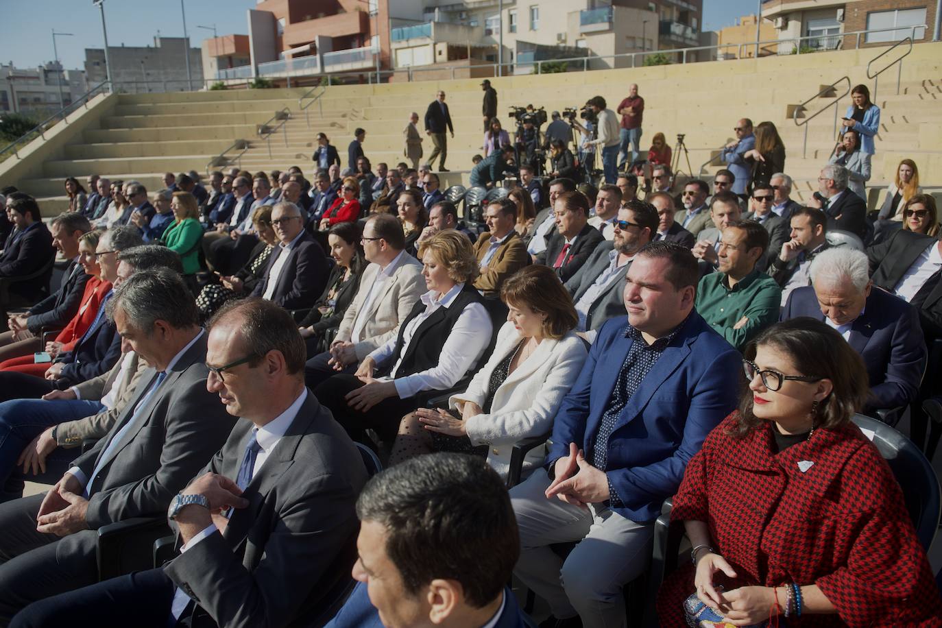
<instances>
[{"instance_id":1,"label":"bright blue suit jacket over dark polka-dot shirt","mask_svg":"<svg viewBox=\"0 0 942 628\"><path fill-rule=\"evenodd\" d=\"M633 342L625 337L627 326L627 316L619 316L599 330L556 415L548 469L569 455L569 443L592 459L602 414ZM700 314L690 313L609 436L606 473L618 495L611 503L615 512L639 523L658 517L707 434L739 403L741 360Z\"/></svg>"}]
</instances>

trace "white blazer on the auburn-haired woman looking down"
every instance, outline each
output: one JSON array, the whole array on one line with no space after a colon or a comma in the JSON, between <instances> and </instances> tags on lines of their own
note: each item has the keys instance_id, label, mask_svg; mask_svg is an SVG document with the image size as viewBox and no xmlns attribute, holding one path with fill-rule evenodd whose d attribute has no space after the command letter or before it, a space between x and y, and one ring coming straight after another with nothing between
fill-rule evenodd
<instances>
[{"instance_id":1,"label":"white blazer on the auburn-haired woman looking down","mask_svg":"<svg viewBox=\"0 0 942 628\"><path fill-rule=\"evenodd\" d=\"M448 406L458 410L460 403L470 401L483 407L491 374L520 340L520 333L513 323L505 323L497 334L497 344L490 360L478 371L465 392L451 395ZM514 443L552 430L562 397L576 381L588 355L585 343L572 331L559 340L544 339L497 389L491 411L466 421L471 443L488 445L487 461L502 477L506 479L510 470ZM521 476L528 475L545 457L544 445L531 449L524 459Z\"/></svg>"}]
</instances>

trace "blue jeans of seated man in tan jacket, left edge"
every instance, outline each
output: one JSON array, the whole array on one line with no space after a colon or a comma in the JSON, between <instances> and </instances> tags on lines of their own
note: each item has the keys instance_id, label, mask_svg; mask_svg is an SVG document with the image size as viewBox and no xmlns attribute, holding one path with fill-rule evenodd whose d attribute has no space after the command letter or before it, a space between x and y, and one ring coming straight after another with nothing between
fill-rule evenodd
<instances>
[{"instance_id":1,"label":"blue jeans of seated man in tan jacket, left edge","mask_svg":"<svg viewBox=\"0 0 942 628\"><path fill-rule=\"evenodd\" d=\"M23 480L11 478L16 460L43 429L91 416L105 407L81 399L14 399L0 403L0 502L23 494Z\"/></svg>"}]
</instances>

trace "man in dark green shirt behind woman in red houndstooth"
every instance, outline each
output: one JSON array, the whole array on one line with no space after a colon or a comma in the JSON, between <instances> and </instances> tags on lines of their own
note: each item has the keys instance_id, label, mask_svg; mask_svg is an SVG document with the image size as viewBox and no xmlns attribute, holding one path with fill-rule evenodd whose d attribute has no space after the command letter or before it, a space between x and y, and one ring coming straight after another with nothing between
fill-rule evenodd
<instances>
[{"instance_id":1,"label":"man in dark green shirt behind woman in red houndstooth","mask_svg":"<svg viewBox=\"0 0 942 628\"><path fill-rule=\"evenodd\" d=\"M740 351L778 320L782 289L758 267L769 233L752 220L729 222L720 240L717 271L697 285L696 310Z\"/></svg>"}]
</instances>

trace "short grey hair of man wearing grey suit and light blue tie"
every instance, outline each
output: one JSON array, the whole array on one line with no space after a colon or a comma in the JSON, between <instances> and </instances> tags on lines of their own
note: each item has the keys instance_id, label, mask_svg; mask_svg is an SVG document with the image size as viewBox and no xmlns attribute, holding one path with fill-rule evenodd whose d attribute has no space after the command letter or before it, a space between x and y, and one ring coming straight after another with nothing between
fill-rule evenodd
<instances>
[{"instance_id":1,"label":"short grey hair of man wearing grey suit and light blue tie","mask_svg":"<svg viewBox=\"0 0 942 628\"><path fill-rule=\"evenodd\" d=\"M114 320L117 308L121 308L131 327L148 335L158 320L175 330L185 330L199 321L193 293L180 274L169 268L151 268L131 275L115 288L114 298L108 301L108 318Z\"/></svg>"}]
</instances>

